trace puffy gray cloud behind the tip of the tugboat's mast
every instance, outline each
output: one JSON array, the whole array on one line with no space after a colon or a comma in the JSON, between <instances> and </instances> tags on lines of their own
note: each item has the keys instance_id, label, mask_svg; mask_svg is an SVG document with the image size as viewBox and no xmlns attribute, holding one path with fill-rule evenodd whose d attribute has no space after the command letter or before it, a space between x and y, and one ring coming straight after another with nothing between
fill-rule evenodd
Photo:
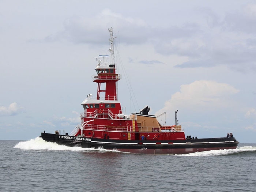
<instances>
[{"instance_id":1,"label":"puffy gray cloud behind the tip of the tugboat's mast","mask_svg":"<svg viewBox=\"0 0 256 192\"><path fill-rule=\"evenodd\" d=\"M102 25L102 23L104 23ZM138 18L125 18L109 9L103 10L92 18L72 16L63 23L64 30L46 36L43 41L68 40L75 44L106 44L109 27L114 28L114 33L119 33L120 41L125 44L141 44L147 41L150 30L147 24Z\"/></svg>"}]
</instances>

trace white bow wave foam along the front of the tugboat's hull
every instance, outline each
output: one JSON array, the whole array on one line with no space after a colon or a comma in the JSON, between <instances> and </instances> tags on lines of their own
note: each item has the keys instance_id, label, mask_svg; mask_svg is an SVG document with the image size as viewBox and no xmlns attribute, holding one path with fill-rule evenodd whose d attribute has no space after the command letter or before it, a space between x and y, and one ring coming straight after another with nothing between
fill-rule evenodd
<instances>
[{"instance_id":1,"label":"white bow wave foam along the front of the tugboat's hull","mask_svg":"<svg viewBox=\"0 0 256 192\"><path fill-rule=\"evenodd\" d=\"M82 148L82 147L68 147L64 145L59 145L57 143L46 142L44 139L37 137L35 139L30 139L29 141L19 142L14 146L14 148L20 148L23 150L53 150L53 151L100 151L100 152L120 152L117 150L107 150L103 148Z\"/></svg>"}]
</instances>

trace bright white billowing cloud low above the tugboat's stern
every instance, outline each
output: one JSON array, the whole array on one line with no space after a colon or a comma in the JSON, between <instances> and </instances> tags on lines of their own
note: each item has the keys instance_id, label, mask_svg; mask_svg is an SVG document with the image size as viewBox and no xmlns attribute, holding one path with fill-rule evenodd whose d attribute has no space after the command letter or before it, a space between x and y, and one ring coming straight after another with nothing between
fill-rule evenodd
<instances>
[{"instance_id":1,"label":"bright white billowing cloud low above the tugboat's stern","mask_svg":"<svg viewBox=\"0 0 256 192\"><path fill-rule=\"evenodd\" d=\"M216 110L233 106L230 95L238 93L239 90L226 83L217 83L209 80L196 80L191 84L181 85L180 91L174 93L165 102L162 112L173 112L177 108L193 109L203 112L206 109Z\"/></svg>"}]
</instances>

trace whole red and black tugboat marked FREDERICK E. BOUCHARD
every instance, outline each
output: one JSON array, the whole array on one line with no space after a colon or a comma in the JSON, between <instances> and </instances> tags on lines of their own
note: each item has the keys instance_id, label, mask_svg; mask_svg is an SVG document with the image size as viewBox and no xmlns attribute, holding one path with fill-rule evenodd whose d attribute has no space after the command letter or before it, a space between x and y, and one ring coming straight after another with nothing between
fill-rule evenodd
<instances>
[{"instance_id":1,"label":"whole red and black tugboat marked FREDERICK E. BOUCHARD","mask_svg":"<svg viewBox=\"0 0 256 192\"><path fill-rule=\"evenodd\" d=\"M122 152L138 154L187 154L208 150L235 149L236 138L204 138L185 136L181 125L178 125L175 112L175 125L161 125L155 115L148 114L147 106L139 113L125 114L117 98L117 82L121 75L116 72L114 61L113 28L109 30L111 61L100 55L96 58L96 75L92 76L97 83L97 96L92 94L81 103L84 111L80 114L81 124L78 124L69 135L41 133L41 138L47 142L55 142L66 146L84 148L105 148Z\"/></svg>"}]
</instances>

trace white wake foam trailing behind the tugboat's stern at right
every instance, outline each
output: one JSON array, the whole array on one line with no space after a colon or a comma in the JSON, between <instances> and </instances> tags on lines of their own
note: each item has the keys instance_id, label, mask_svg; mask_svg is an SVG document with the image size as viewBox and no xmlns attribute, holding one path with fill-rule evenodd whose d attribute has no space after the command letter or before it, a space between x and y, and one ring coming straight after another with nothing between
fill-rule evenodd
<instances>
[{"instance_id":1,"label":"white wake foam trailing behind the tugboat's stern at right","mask_svg":"<svg viewBox=\"0 0 256 192\"><path fill-rule=\"evenodd\" d=\"M238 147L236 149L224 149L224 150L211 150L211 151L202 151L196 153L182 154L179 156L191 156L191 157L203 157L203 156L220 156L220 155L229 155L236 154L246 151L256 151L256 147L253 146L244 146Z\"/></svg>"}]
</instances>

